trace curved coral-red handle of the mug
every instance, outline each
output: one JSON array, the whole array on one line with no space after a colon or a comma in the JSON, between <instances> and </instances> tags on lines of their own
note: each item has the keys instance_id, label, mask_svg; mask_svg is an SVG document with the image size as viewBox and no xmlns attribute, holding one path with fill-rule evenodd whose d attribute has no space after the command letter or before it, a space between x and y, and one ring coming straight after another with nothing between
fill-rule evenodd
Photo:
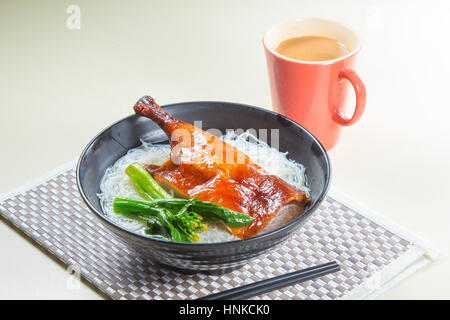
<instances>
[{"instance_id":1,"label":"curved coral-red handle of the mug","mask_svg":"<svg viewBox=\"0 0 450 320\"><path fill-rule=\"evenodd\" d=\"M348 118L344 114L341 107L336 108L334 110L333 120L342 126L351 126L361 118L364 112L364 107L366 106L366 87L356 72L352 69L341 70L341 72L339 72L339 80L341 79L346 79L352 84L356 95L356 106L351 118Z\"/></svg>"}]
</instances>

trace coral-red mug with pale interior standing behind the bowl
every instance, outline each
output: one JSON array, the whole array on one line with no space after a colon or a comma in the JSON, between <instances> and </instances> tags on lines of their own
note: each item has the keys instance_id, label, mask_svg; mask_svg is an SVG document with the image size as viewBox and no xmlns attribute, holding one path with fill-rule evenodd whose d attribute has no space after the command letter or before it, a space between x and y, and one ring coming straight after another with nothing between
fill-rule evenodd
<instances>
[{"instance_id":1,"label":"coral-red mug with pale interior standing behind the bowl","mask_svg":"<svg viewBox=\"0 0 450 320\"><path fill-rule=\"evenodd\" d=\"M350 52L333 60L301 61L275 51L282 41L301 36L335 39ZM358 121L366 104L366 88L352 69L361 49L359 36L340 23L305 18L276 25L264 35L263 45L274 110L305 127L330 150L339 139L341 127ZM344 112L348 85L343 80L355 91L352 116Z\"/></svg>"}]
</instances>

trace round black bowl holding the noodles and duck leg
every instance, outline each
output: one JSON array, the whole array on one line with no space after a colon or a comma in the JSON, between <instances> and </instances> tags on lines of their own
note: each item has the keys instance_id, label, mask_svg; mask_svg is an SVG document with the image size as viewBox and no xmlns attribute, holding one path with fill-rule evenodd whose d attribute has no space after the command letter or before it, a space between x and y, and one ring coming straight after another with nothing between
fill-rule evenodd
<instances>
[{"instance_id":1,"label":"round black bowl holding the noodles and duck leg","mask_svg":"<svg viewBox=\"0 0 450 320\"><path fill-rule=\"evenodd\" d=\"M168 141L150 119L132 115L99 133L81 154L77 184L83 200L106 228L127 246L154 262L182 272L220 273L243 266L249 259L287 240L313 214L325 197L330 182L330 162L320 142L294 121L265 109L227 102L186 102L164 107L174 117L194 124L201 120L203 130L279 129L279 150L306 167L311 204L303 215L268 233L222 243L176 243L152 239L129 231L108 220L97 197L105 170L140 139L153 143ZM197 124L197 123L196 123Z\"/></svg>"}]
</instances>

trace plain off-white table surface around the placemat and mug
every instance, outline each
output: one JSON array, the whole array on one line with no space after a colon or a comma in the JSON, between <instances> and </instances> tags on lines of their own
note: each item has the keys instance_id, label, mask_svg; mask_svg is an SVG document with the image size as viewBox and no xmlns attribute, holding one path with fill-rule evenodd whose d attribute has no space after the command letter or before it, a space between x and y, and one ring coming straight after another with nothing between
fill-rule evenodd
<instances>
[{"instance_id":1,"label":"plain off-white table surface around the placemat and mug","mask_svg":"<svg viewBox=\"0 0 450 320\"><path fill-rule=\"evenodd\" d=\"M393 2L393 3L392 3ZM69 30L69 5L81 29ZM333 186L450 249L450 6L445 1L0 1L0 193L69 160L145 94L270 108L261 44L325 17L363 38L366 112L330 152ZM351 102L351 101L350 101ZM441 259L383 299L449 299ZM0 222L0 299L101 299Z\"/></svg>"}]
</instances>

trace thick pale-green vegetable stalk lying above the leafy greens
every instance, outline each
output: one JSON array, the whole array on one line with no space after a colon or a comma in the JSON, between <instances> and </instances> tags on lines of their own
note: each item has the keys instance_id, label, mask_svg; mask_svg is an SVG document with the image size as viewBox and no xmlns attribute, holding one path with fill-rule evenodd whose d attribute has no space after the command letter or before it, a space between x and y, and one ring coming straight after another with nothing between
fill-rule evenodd
<instances>
[{"instance_id":1,"label":"thick pale-green vegetable stalk lying above the leafy greens","mask_svg":"<svg viewBox=\"0 0 450 320\"><path fill-rule=\"evenodd\" d=\"M153 179L143 166L135 162L125 169L136 191L147 200L170 199L171 196Z\"/></svg>"}]
</instances>

